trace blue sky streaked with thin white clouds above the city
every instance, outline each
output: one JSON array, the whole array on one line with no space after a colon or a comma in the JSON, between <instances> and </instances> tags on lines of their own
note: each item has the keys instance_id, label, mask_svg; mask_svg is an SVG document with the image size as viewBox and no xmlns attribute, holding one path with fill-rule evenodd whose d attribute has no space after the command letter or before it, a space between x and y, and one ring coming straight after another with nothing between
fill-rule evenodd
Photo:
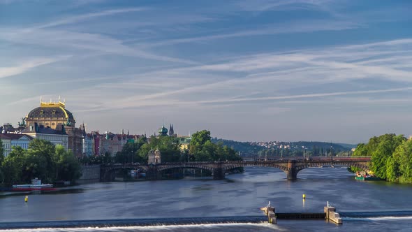
<instances>
[{"instance_id":1,"label":"blue sky streaked with thin white clouds above the city","mask_svg":"<svg viewBox=\"0 0 412 232\"><path fill-rule=\"evenodd\" d=\"M0 123L240 141L412 134L412 1L0 0ZM157 133L157 132L156 132Z\"/></svg>"}]
</instances>

